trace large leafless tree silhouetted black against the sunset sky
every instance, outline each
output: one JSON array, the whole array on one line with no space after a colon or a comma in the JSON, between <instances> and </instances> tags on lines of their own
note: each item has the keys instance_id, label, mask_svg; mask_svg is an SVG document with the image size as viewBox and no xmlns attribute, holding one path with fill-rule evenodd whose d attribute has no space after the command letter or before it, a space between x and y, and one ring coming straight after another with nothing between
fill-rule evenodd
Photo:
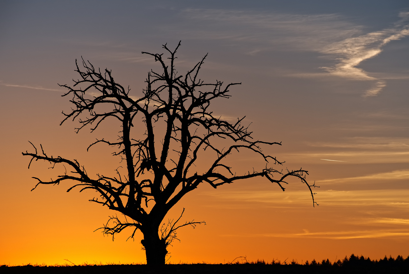
<instances>
[{"instance_id":1,"label":"large leafless tree silhouetted black against the sunset sky","mask_svg":"<svg viewBox=\"0 0 409 274\"><path fill-rule=\"evenodd\" d=\"M97 139L88 149L98 143L117 147L114 155L120 156L126 164L125 175L117 169L114 177L100 174L91 177L78 161L48 156L41 145L41 152L31 144L35 152L22 153L32 157L29 167L35 159L49 161L53 167L63 164L71 168L70 172L51 181L33 177L38 180L33 190L40 184L74 181L67 191L75 187L81 188L81 191L95 190L99 197L90 201L122 213L125 221L112 216L101 229L103 233L114 236L132 227L132 238L139 229L144 236L141 243L146 250L148 265L165 263L166 247L176 239L175 231L178 228L202 223L193 220L178 224L180 217L167 225L162 223L166 213L200 183L209 183L217 188L237 180L265 177L284 190L285 180L297 177L306 184L313 205L316 204L315 193L312 192L315 185L309 185L306 181L308 172L302 169L283 172L272 168L270 164L282 165L283 162L263 153L260 148L261 145L281 143L254 140L252 132L242 124L244 118L231 123L209 110L213 100L228 98L229 88L240 83L231 83L223 88L223 82L207 84L202 81L198 73L206 56L185 75L178 75L174 63L179 46L180 43L175 50L169 50L166 44L163 45L170 55L167 58L169 61L163 59L163 54L142 52L151 55L160 64L161 72L148 72L147 87L139 98L129 95L129 87L124 88L115 82L110 70L101 72L84 60L81 69L76 62L80 79L73 80L74 86L60 85L68 89L62 96L71 95L70 102L75 106L70 113L63 112L65 119L61 124L68 119L78 119L80 126L76 128L77 133L88 125L92 132L107 118L114 118L120 124L119 139ZM88 117L82 114L88 114ZM226 146L226 143L229 145ZM245 149L260 156L265 161L265 167L235 174L225 163L226 158ZM207 157L208 166L196 166L197 160L204 156Z\"/></svg>"}]
</instances>

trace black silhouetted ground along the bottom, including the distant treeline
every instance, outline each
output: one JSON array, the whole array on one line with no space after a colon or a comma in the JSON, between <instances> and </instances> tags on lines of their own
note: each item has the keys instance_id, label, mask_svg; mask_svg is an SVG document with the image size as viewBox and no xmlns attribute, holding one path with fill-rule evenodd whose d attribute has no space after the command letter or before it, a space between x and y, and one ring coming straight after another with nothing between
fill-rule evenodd
<instances>
[{"instance_id":1,"label":"black silhouetted ground along the bottom, including the distant treeline","mask_svg":"<svg viewBox=\"0 0 409 274\"><path fill-rule=\"evenodd\" d=\"M234 273L234 274L264 274L264 273L409 273L409 256L404 259L398 256L396 259L389 257L381 260L371 260L363 256L353 254L344 260L335 263L323 260L317 263L313 260L301 265L292 261L291 263L256 261L251 263L233 264L178 264L165 265L163 267L150 267L148 265L74 265L74 266L0 266L0 273L74 273L74 274L207 274L207 273Z\"/></svg>"}]
</instances>

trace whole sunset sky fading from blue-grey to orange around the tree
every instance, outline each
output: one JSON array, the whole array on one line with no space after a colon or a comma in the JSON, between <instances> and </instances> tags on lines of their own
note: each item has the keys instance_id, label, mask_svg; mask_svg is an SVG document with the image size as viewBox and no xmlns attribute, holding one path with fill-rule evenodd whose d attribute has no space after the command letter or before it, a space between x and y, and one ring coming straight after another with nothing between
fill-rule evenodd
<instances>
[{"instance_id":1,"label":"whole sunset sky fading from blue-grey to orange around the tree","mask_svg":"<svg viewBox=\"0 0 409 274\"><path fill-rule=\"evenodd\" d=\"M137 94L157 68L141 52L179 40L180 72L208 52L202 79L243 83L214 113L246 115L255 138L282 141L271 153L320 188L314 208L298 181L285 192L264 180L203 185L169 217L185 207L186 220L207 225L181 229L168 262L408 256L408 24L406 0L2 1L0 264L144 263L142 234L112 242L93 232L115 212L88 202L92 192L30 192L31 177L55 172L42 162L28 170L21 152L30 140L89 174L113 172L110 148L86 148L115 126L59 126L71 106L57 83L72 84L83 56ZM259 164L231 160L236 170Z\"/></svg>"}]
</instances>

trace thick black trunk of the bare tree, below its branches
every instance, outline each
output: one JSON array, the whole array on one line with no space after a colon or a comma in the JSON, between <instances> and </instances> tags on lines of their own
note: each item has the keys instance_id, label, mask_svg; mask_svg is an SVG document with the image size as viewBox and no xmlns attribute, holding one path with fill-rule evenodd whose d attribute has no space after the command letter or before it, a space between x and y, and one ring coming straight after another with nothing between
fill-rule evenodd
<instances>
[{"instance_id":1,"label":"thick black trunk of the bare tree, below its branches","mask_svg":"<svg viewBox=\"0 0 409 274\"><path fill-rule=\"evenodd\" d=\"M141 244L145 248L147 265L165 264L165 257L168 253L166 241L159 238L157 231L144 233L144 239L141 241Z\"/></svg>"}]
</instances>

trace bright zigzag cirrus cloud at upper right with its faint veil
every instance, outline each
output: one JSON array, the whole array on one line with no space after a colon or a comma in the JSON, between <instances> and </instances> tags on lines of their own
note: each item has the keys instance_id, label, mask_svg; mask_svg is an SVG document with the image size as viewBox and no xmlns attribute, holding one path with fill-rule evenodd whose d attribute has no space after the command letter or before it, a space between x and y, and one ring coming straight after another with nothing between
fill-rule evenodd
<instances>
[{"instance_id":1,"label":"bright zigzag cirrus cloud at upper right with its faint veil","mask_svg":"<svg viewBox=\"0 0 409 274\"><path fill-rule=\"evenodd\" d=\"M336 76L372 81L363 97L378 95L386 81L370 76L369 72L357 66L380 54L387 43L409 35L409 12L401 12L401 19L393 27L366 34L362 34L362 26L348 23L337 14L292 15L216 9L185 9L182 14L192 21L207 21L207 29L198 27L194 31L184 31L191 38L252 43L248 54L273 47L324 54L335 61L333 65L321 67L326 73L295 73L292 76Z\"/></svg>"}]
</instances>

